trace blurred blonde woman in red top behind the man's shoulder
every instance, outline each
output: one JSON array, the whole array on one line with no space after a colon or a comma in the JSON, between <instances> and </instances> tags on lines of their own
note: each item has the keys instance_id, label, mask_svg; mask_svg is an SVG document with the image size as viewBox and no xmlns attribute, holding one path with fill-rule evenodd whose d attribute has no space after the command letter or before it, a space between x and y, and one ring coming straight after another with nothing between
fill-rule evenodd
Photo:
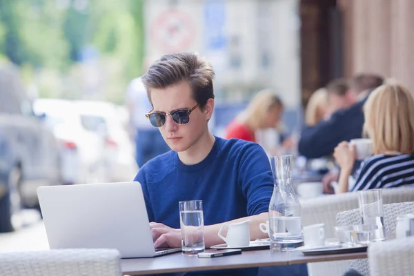
<instances>
[{"instance_id":1,"label":"blurred blonde woman in red top behind the man's shoulder","mask_svg":"<svg viewBox=\"0 0 414 276\"><path fill-rule=\"evenodd\" d=\"M258 92L248 106L226 128L226 139L237 138L257 142L259 130L276 128L282 120L284 105L272 90ZM291 137L282 141L282 148L291 150L296 143Z\"/></svg>"}]
</instances>

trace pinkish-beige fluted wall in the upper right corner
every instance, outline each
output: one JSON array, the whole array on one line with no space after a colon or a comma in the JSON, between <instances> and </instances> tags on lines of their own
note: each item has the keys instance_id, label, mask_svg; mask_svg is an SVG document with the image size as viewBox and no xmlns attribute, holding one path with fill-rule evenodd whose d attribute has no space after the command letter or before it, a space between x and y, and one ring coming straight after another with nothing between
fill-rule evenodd
<instances>
[{"instance_id":1,"label":"pinkish-beige fluted wall in the upper right corner","mask_svg":"<svg viewBox=\"0 0 414 276\"><path fill-rule=\"evenodd\" d=\"M339 0L344 73L377 72L414 91L414 1Z\"/></svg>"}]
</instances>

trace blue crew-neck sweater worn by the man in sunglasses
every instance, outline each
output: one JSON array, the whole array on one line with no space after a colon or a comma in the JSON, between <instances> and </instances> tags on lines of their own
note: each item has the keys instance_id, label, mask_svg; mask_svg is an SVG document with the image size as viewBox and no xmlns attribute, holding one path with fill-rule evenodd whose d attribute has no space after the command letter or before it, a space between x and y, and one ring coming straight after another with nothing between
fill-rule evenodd
<instances>
[{"instance_id":1,"label":"blue crew-neck sweater worn by the man in sunglasses","mask_svg":"<svg viewBox=\"0 0 414 276\"><path fill-rule=\"evenodd\" d=\"M273 193L270 163L262 147L219 137L199 164L184 165L177 152L166 152L142 166L135 181L141 183L150 221L172 228L179 228L179 201L203 200L204 224L211 225L267 212ZM237 273L256 274L257 269Z\"/></svg>"}]
</instances>

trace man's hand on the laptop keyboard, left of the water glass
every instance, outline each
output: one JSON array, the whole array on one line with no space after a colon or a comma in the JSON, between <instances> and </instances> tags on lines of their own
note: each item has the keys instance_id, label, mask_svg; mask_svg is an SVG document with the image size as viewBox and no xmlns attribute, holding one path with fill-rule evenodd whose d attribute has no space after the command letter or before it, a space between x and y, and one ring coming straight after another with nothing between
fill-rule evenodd
<instances>
[{"instance_id":1,"label":"man's hand on the laptop keyboard, left of the water glass","mask_svg":"<svg viewBox=\"0 0 414 276\"><path fill-rule=\"evenodd\" d=\"M164 224L150 222L152 240L155 248L181 247L181 230L168 227Z\"/></svg>"}]
</instances>

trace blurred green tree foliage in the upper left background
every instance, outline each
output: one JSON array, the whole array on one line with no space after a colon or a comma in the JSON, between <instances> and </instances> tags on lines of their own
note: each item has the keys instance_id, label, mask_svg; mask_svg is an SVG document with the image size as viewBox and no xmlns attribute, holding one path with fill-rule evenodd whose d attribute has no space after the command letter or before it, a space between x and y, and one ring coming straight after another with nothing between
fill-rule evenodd
<instances>
[{"instance_id":1,"label":"blurred green tree foliage in the upper left background","mask_svg":"<svg viewBox=\"0 0 414 276\"><path fill-rule=\"evenodd\" d=\"M88 97L88 85L79 84L85 78L80 57L95 48L105 82L96 97L121 102L128 81L142 70L144 0L83 0L79 8L80 2L0 0L0 59L20 66L28 82L42 82L42 95Z\"/></svg>"}]
</instances>

